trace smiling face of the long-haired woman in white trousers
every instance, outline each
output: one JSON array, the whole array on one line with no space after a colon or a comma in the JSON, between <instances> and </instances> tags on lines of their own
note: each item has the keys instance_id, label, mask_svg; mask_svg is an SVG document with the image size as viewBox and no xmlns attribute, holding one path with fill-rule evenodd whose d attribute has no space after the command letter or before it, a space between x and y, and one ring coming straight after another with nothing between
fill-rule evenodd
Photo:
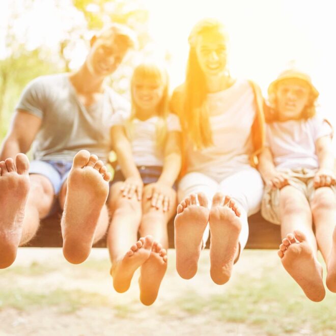
<instances>
[{"instance_id":1,"label":"smiling face of the long-haired woman in white trousers","mask_svg":"<svg viewBox=\"0 0 336 336\"><path fill-rule=\"evenodd\" d=\"M225 73L227 66L227 41L219 32L206 32L198 36L195 50L205 76L213 77Z\"/></svg>"}]
</instances>

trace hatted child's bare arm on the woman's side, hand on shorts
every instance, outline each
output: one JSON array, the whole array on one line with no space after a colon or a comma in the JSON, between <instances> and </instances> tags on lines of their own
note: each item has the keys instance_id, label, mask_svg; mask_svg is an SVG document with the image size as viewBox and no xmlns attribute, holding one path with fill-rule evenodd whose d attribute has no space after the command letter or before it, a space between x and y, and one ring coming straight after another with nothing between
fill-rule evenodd
<instances>
[{"instance_id":1,"label":"hatted child's bare arm on the woman's side, hand on shorts","mask_svg":"<svg viewBox=\"0 0 336 336\"><path fill-rule=\"evenodd\" d=\"M288 176L275 169L273 156L268 147L265 147L259 155L258 170L265 184L268 186L281 189L289 184Z\"/></svg>"}]
</instances>

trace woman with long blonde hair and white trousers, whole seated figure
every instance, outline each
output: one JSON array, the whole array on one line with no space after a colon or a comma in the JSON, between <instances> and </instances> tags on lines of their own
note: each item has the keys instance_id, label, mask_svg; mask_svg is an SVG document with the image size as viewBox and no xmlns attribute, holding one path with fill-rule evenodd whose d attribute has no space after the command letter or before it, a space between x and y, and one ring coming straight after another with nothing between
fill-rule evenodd
<instances>
[{"instance_id":1,"label":"woman with long blonde hair and white trousers, whole seated figure","mask_svg":"<svg viewBox=\"0 0 336 336\"><path fill-rule=\"evenodd\" d=\"M188 42L186 78L171 100L185 135L176 266L183 278L195 275L210 230L210 274L225 284L248 238L247 216L259 210L263 193L255 168L264 143L262 98L253 82L231 77L228 35L219 21L198 22Z\"/></svg>"}]
</instances>

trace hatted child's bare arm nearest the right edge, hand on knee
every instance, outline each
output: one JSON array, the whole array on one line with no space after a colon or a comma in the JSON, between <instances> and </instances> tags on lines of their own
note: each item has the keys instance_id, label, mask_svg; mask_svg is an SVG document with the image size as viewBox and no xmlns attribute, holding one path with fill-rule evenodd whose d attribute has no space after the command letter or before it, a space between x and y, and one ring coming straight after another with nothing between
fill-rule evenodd
<instances>
[{"instance_id":1,"label":"hatted child's bare arm nearest the right edge, hand on knee","mask_svg":"<svg viewBox=\"0 0 336 336\"><path fill-rule=\"evenodd\" d=\"M319 170L314 178L315 188L328 187L335 184L334 157L331 148L331 137L322 136L315 143Z\"/></svg>"}]
</instances>

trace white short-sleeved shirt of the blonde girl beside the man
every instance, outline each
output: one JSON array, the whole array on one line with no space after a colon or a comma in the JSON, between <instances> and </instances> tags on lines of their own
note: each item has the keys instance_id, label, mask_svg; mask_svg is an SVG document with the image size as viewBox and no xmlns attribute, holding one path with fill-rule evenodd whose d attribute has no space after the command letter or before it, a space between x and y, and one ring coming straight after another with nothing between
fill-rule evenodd
<instances>
[{"instance_id":1,"label":"white short-sleeved shirt of the blonde girl beside the man","mask_svg":"<svg viewBox=\"0 0 336 336\"><path fill-rule=\"evenodd\" d=\"M111 127L117 125L125 127L129 118L129 111L127 113L117 111L111 118ZM163 166L164 148L157 146L156 124L158 118L154 116L145 121L135 118L132 121L132 138L129 140L136 166ZM170 113L166 118L166 127L167 132L180 132L181 125L178 116Z\"/></svg>"}]
</instances>

